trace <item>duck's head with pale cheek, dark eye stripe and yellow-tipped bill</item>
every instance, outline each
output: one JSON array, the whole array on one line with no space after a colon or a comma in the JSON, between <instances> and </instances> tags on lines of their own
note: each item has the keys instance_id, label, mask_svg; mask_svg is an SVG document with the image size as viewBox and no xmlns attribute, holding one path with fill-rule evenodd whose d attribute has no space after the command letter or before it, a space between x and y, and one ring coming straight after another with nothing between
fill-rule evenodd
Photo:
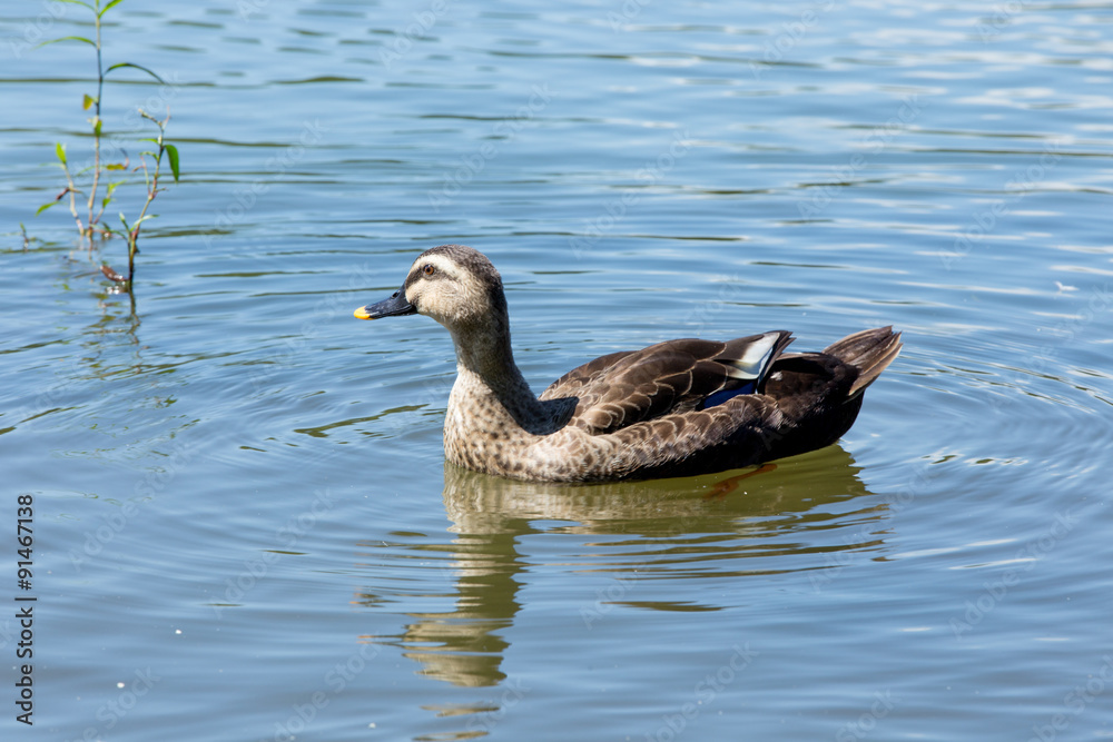
<instances>
[{"instance_id":1,"label":"duck's head with pale cheek, dark eye stripe and yellow-tipped bill","mask_svg":"<svg viewBox=\"0 0 1113 742\"><path fill-rule=\"evenodd\" d=\"M355 310L359 319L421 314L450 330L505 321L502 278L486 256L463 245L441 245L422 253L402 288L390 298Z\"/></svg>"}]
</instances>

